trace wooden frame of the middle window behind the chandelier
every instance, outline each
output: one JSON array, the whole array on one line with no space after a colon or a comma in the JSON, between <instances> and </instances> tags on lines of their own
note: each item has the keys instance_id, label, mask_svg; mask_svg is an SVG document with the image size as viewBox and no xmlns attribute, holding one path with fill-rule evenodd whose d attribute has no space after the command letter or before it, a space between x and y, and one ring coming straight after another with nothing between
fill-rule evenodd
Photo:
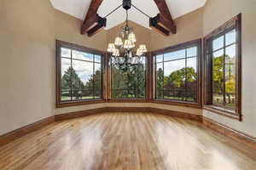
<instances>
[{"instance_id":1,"label":"wooden frame of the middle window behind the chandelier","mask_svg":"<svg viewBox=\"0 0 256 170\"><path fill-rule=\"evenodd\" d=\"M145 82L145 98L144 99L113 99L112 97L112 71L111 71L111 54L108 54L107 56L107 74L108 74L108 79L107 79L107 83L108 83L108 99L107 102L110 103L148 103L151 102L151 97L150 97L150 80L151 80L151 73L150 73L150 63L151 63L151 59L150 59L150 53L145 54L145 65L146 65L146 82Z\"/></svg>"}]
</instances>

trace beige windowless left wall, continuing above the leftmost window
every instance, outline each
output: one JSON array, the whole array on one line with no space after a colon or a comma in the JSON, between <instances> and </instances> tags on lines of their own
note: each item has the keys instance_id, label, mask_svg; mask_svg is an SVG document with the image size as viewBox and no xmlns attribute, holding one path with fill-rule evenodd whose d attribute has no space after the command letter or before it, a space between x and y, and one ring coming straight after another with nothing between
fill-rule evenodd
<instances>
[{"instance_id":1,"label":"beige windowless left wall, continuing above the leftmost window","mask_svg":"<svg viewBox=\"0 0 256 170\"><path fill-rule=\"evenodd\" d=\"M55 115L55 39L107 48L107 31L81 36L81 24L49 0L1 0L0 135Z\"/></svg>"}]
</instances>

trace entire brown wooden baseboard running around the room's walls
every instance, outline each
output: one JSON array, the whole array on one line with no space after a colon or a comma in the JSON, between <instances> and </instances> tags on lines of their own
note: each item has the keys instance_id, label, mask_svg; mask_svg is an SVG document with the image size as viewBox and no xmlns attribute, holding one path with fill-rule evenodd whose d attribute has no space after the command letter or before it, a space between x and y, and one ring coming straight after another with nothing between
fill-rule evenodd
<instances>
[{"instance_id":1,"label":"entire brown wooden baseboard running around the room's walls","mask_svg":"<svg viewBox=\"0 0 256 170\"><path fill-rule=\"evenodd\" d=\"M169 111L169 110L150 108L150 107L102 107L102 108L88 110L88 111L76 111L76 112L70 112L70 113L61 114L61 115L50 116L41 121L34 122L25 127L16 129L15 131L12 131L10 133L3 134L2 136L0 136L0 146L2 146L3 144L8 144L9 142L14 141L15 139L19 139L21 136L24 136L27 133L31 133L32 131L37 130L41 127L44 127L46 125L49 125L50 123L55 121L67 120L67 119L72 119L80 116L95 115L103 112L152 112L156 114L165 114L168 116L175 116L183 119L194 120L197 122L202 122L206 127L212 128L218 133L222 133L226 136L229 136L230 138L235 139L241 142L242 144L246 144L250 148L253 148L254 150L256 150L255 138L245 133L238 132L230 127L226 127L218 122L214 122L211 119L208 119L206 117L203 118L200 115L192 115L192 114L180 112L180 111Z\"/></svg>"}]
</instances>

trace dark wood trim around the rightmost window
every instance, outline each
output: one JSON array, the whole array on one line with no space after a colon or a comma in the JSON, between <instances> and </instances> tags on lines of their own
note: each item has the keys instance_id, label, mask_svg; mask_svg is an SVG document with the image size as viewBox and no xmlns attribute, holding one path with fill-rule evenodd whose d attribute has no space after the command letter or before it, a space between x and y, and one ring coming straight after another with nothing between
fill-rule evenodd
<instances>
[{"instance_id":1,"label":"dark wood trim around the rightmost window","mask_svg":"<svg viewBox=\"0 0 256 170\"><path fill-rule=\"evenodd\" d=\"M215 37L236 29L236 111L224 106L212 105L212 59L207 55L207 43ZM224 23L204 37L203 109L241 121L241 14Z\"/></svg>"}]
</instances>

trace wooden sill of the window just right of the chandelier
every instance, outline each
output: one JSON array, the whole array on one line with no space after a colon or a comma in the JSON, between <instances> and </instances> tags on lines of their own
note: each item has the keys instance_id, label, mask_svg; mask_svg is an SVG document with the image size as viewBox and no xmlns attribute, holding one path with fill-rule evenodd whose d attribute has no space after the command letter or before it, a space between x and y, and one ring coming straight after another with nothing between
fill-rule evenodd
<instances>
[{"instance_id":1,"label":"wooden sill of the window just right of the chandelier","mask_svg":"<svg viewBox=\"0 0 256 170\"><path fill-rule=\"evenodd\" d=\"M175 101L175 100L167 100L167 99L154 99L153 101L156 104L164 104L164 105L178 105L185 107L195 107L201 108L201 105L198 103L188 102L188 101Z\"/></svg>"}]
</instances>

